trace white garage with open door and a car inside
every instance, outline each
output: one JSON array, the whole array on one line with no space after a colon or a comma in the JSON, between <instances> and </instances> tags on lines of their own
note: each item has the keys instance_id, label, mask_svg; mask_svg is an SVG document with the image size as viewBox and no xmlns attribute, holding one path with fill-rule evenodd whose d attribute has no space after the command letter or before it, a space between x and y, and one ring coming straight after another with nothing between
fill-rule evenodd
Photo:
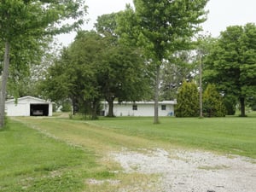
<instances>
[{"instance_id":1,"label":"white garage with open door and a car inside","mask_svg":"<svg viewBox=\"0 0 256 192\"><path fill-rule=\"evenodd\" d=\"M52 102L43 99L24 96L5 102L7 116L52 116Z\"/></svg>"}]
</instances>

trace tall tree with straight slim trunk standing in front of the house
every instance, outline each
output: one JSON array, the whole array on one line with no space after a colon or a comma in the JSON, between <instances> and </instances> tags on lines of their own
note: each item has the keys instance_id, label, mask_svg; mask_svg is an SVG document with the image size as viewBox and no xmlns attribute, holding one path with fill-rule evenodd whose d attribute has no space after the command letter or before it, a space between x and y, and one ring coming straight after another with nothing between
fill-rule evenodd
<instances>
[{"instance_id":1,"label":"tall tree with straight slim trunk standing in front of the house","mask_svg":"<svg viewBox=\"0 0 256 192\"><path fill-rule=\"evenodd\" d=\"M186 49L190 38L205 21L208 0L134 0L119 16L119 33L126 41L142 45L154 66L154 123L159 123L160 67L178 49ZM129 40L131 38L132 40Z\"/></svg>"}]
</instances>

